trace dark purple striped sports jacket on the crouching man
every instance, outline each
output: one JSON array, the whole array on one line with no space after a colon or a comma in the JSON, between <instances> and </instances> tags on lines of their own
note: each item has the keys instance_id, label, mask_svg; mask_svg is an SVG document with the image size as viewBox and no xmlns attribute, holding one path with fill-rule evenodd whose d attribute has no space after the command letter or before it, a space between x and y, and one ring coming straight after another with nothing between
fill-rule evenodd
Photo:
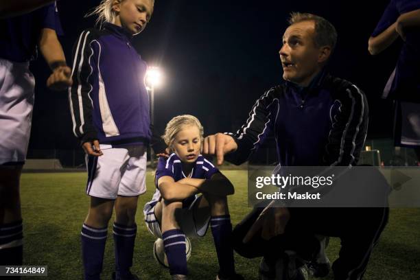
<instances>
[{"instance_id":1,"label":"dark purple striped sports jacket on the crouching man","mask_svg":"<svg viewBox=\"0 0 420 280\"><path fill-rule=\"evenodd\" d=\"M264 93L230 133L238 148L226 160L244 163L272 133L283 166L355 165L368 117L366 96L346 80L322 73L308 88L285 82Z\"/></svg>"}]
</instances>

